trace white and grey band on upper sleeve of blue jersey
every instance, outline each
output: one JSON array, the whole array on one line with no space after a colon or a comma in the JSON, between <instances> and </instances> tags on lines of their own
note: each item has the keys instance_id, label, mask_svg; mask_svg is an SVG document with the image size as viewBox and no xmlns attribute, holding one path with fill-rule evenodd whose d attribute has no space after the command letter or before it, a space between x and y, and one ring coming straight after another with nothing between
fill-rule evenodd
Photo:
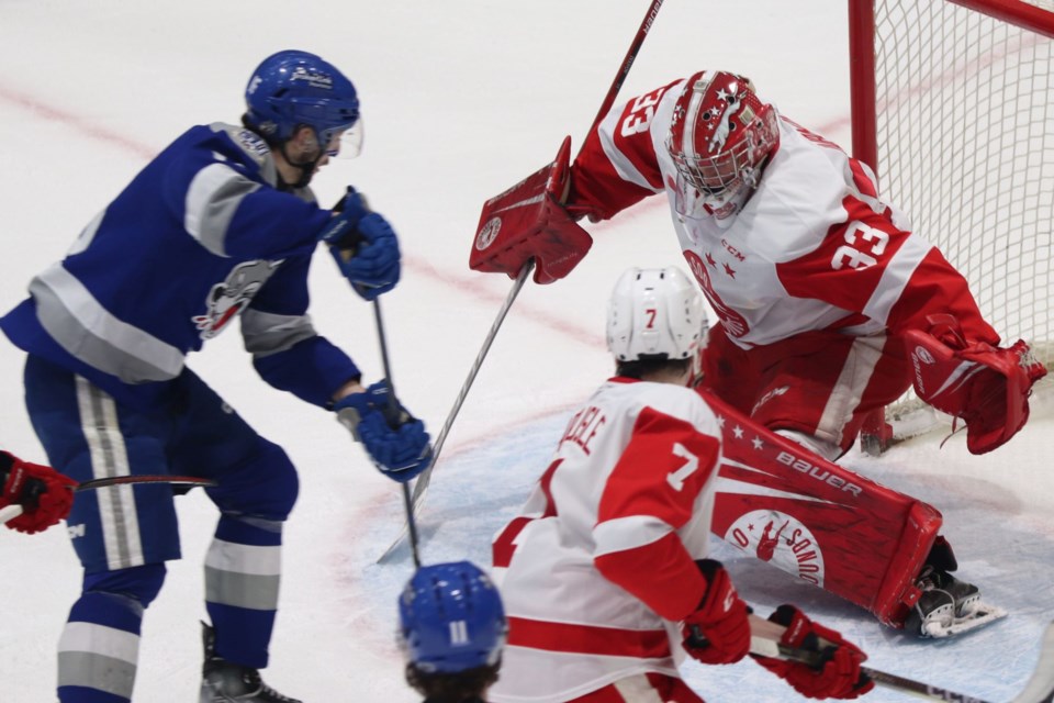
<instances>
[{"instance_id":1,"label":"white and grey band on upper sleeve of blue jersey","mask_svg":"<svg viewBox=\"0 0 1054 703\"><path fill-rule=\"evenodd\" d=\"M215 154L217 158L224 158ZM259 190L226 164L210 164L194 175L187 189L183 227L216 256L226 256L227 227L246 196Z\"/></svg>"}]
</instances>

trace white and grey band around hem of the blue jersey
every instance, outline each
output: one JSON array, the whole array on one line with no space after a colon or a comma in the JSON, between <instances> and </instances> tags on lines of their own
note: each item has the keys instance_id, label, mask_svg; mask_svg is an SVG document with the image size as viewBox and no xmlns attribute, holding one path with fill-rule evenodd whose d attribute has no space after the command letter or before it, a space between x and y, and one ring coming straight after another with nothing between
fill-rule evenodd
<instances>
[{"instance_id":1,"label":"white and grey band around hem of the blue jersey","mask_svg":"<svg viewBox=\"0 0 1054 703\"><path fill-rule=\"evenodd\" d=\"M83 283L55 264L30 282L41 326L71 356L125 383L167 381L183 370L183 353L117 320Z\"/></svg>"}]
</instances>

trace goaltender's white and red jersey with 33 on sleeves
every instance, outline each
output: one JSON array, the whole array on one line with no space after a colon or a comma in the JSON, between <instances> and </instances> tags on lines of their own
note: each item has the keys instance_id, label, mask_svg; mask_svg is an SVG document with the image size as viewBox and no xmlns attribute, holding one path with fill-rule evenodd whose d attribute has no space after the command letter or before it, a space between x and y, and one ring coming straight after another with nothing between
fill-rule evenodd
<instances>
[{"instance_id":1,"label":"goaltender's white and red jersey with 33 on sleeves","mask_svg":"<svg viewBox=\"0 0 1054 703\"><path fill-rule=\"evenodd\" d=\"M665 192L681 248L730 339L749 349L814 330L929 328L952 313L998 344L966 281L878 196L874 174L785 118L761 183L731 222L682 196L665 147L684 80L614 108L572 166L568 209L604 220Z\"/></svg>"}]
</instances>

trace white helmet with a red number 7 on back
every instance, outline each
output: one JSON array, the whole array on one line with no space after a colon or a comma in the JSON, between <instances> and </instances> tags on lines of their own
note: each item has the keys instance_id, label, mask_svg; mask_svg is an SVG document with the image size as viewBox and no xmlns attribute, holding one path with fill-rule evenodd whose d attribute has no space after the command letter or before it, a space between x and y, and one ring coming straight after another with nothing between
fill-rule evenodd
<instances>
[{"instance_id":1,"label":"white helmet with a red number 7 on back","mask_svg":"<svg viewBox=\"0 0 1054 703\"><path fill-rule=\"evenodd\" d=\"M619 361L688 359L707 327L698 288L681 269L630 268L607 306L607 348Z\"/></svg>"}]
</instances>

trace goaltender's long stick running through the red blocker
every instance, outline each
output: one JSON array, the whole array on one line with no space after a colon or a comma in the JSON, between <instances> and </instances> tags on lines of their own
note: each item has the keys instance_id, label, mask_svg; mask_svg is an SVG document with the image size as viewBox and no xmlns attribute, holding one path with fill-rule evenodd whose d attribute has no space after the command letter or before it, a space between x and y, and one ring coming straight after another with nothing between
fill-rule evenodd
<instances>
[{"instance_id":1,"label":"goaltender's long stick running through the red blocker","mask_svg":"<svg viewBox=\"0 0 1054 703\"><path fill-rule=\"evenodd\" d=\"M652 0L651 4L648 7L648 12L644 14L644 19L641 20L640 26L637 29L637 34L633 36L633 42L629 45L629 49L626 52L626 56L623 58L623 63L619 65L619 70L615 75L615 79L612 81L610 87L607 89L607 94L604 96L604 102L601 103L601 109L596 111L596 116L593 118L593 123L590 125L590 131L586 132L586 134L596 129L596 125L599 124L601 120L604 119L604 115L607 114L607 111L612 109L613 104L615 104L615 98L618 97L618 91L621 90L623 83L626 82L626 77L629 75L630 67L633 65L633 62L637 60L637 54L640 53L640 47L643 45L644 38L648 36L648 32L651 30L652 22L655 21L655 15L659 14L659 8L662 7L662 2L663 0ZM534 268L534 259L529 259L526 264L524 264L523 268L519 269L519 274L516 276L516 281L513 283L512 290L508 292L508 295L505 298L505 302L502 304L502 309L497 313L497 319L491 326L491 331L487 333L486 339L483 341L483 348L480 349L480 354L476 356L475 362L469 370L469 378L461 387L461 392L458 393L458 398L453 402L453 408L451 409L450 414L447 416L447 421L442 425L442 431L436 438L431 464L429 464L428 468L425 469L419 477L417 477L417 481L414 483L413 503L410 507L412 514L415 513L418 507L421 507L421 503L424 501L425 491L428 490L428 483L431 482L431 471L436 466L436 460L439 458L439 450L442 448L442 443L447 438L447 432L449 432L450 425L453 424L453 419L461 410L461 403L464 402L464 397L468 394L469 388L475 380L475 375L480 370L480 365L483 362L483 357L486 356L487 349L491 348L491 343L494 341L494 335L497 334L497 330L501 327L502 321L505 320L508 309L513 306L513 302L515 302L516 297L519 294L519 291L524 287L524 282L527 280L527 276L530 274L530 270ZM395 547L399 546L399 543L403 540L403 535L406 534L407 525L403 526L403 529L395 538L395 542L393 542L392 545L384 550L384 554L378 558L378 563L384 561L395 549Z\"/></svg>"}]
</instances>

